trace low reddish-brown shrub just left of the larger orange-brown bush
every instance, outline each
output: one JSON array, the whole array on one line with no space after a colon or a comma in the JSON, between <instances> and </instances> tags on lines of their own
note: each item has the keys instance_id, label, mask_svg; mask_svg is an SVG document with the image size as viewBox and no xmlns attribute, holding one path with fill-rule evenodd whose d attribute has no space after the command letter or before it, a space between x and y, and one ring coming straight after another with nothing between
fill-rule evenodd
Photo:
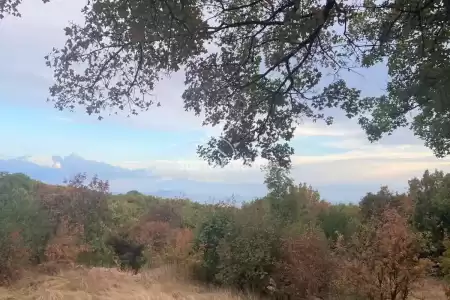
<instances>
[{"instance_id":1,"label":"low reddish-brown shrub just left of the larger orange-brown bush","mask_svg":"<svg viewBox=\"0 0 450 300\"><path fill-rule=\"evenodd\" d=\"M273 278L284 297L307 299L328 294L334 263L325 237L308 229L284 240L281 249L282 260L277 263Z\"/></svg>"}]
</instances>

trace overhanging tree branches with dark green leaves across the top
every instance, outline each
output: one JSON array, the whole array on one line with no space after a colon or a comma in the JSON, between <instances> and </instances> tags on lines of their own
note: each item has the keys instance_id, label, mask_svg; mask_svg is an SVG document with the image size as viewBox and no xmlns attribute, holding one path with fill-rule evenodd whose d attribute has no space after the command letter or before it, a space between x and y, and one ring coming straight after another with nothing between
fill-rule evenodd
<instances>
[{"instance_id":1,"label":"overhanging tree branches with dark green leaves across the top","mask_svg":"<svg viewBox=\"0 0 450 300\"><path fill-rule=\"evenodd\" d=\"M48 0L44 0L46 2ZM17 13L20 0L3 0ZM444 0L95 0L85 24L46 57L55 107L137 114L164 74L186 72L184 107L222 137L200 146L216 165L257 156L290 164L302 119L333 122L329 108L358 117L375 141L410 126L437 156L450 151L449 1ZM381 96L362 97L339 76L387 63ZM410 120L408 114L415 117ZM371 117L369 117L371 115ZM235 151L223 151L233 145Z\"/></svg>"}]
</instances>

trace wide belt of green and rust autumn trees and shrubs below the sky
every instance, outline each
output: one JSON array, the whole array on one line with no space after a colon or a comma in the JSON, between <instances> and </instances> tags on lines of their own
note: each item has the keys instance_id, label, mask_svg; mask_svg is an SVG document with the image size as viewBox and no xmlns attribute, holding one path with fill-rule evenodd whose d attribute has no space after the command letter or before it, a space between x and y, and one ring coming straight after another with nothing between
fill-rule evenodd
<instances>
[{"instance_id":1,"label":"wide belt of green and rust autumn trees and shrubs below the sky","mask_svg":"<svg viewBox=\"0 0 450 300\"><path fill-rule=\"evenodd\" d=\"M427 278L450 290L450 174L427 170L406 193L381 187L357 204L327 202L276 166L265 182L261 199L201 204L112 195L83 174L54 186L1 173L1 283L30 269L172 265L267 299L407 299Z\"/></svg>"}]
</instances>

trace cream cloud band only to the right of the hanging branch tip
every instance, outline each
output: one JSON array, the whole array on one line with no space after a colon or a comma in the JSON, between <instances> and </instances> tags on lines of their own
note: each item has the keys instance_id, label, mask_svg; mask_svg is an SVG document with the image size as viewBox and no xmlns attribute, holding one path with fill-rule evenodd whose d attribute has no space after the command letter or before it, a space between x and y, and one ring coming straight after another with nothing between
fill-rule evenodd
<instances>
[{"instance_id":1,"label":"cream cloud band only to the right of the hanging branch tip","mask_svg":"<svg viewBox=\"0 0 450 300\"><path fill-rule=\"evenodd\" d=\"M415 151L373 151L345 155L295 157L292 174L297 181L313 185L378 183L406 184L425 169L450 171L449 160L438 160L429 153Z\"/></svg>"}]
</instances>

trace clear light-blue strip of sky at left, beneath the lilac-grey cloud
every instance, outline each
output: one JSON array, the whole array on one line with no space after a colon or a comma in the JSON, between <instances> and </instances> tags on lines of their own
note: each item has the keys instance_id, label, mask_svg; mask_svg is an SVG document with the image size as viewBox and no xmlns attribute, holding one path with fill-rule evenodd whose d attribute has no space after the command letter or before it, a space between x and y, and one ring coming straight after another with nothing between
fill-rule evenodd
<instances>
[{"instance_id":1,"label":"clear light-blue strip of sky at left, beneath the lilac-grey cloud","mask_svg":"<svg viewBox=\"0 0 450 300\"><path fill-rule=\"evenodd\" d=\"M7 99L8 95L0 97ZM14 156L70 154L115 162L133 160L195 157L195 143L204 139L199 130L173 131L133 128L110 121L76 120L70 114L48 108L2 103L0 134L10 141L2 154ZM189 147L186 147L188 146ZM180 151L180 146L183 151Z\"/></svg>"}]
</instances>

